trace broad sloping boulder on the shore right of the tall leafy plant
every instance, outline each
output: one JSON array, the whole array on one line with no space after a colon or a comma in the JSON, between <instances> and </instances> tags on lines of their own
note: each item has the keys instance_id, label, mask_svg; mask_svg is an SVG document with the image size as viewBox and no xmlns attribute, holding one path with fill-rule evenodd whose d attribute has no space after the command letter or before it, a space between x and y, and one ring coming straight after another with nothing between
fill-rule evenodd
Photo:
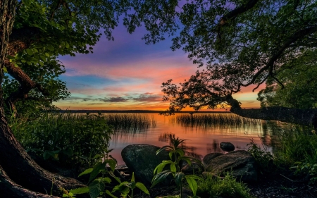
<instances>
[{"instance_id":1,"label":"broad sloping boulder on the shore right of the tall leafy plant","mask_svg":"<svg viewBox=\"0 0 317 198\"><path fill-rule=\"evenodd\" d=\"M230 172L237 180L244 182L253 182L258 178L254 157L248 151L243 150L231 151L211 159L206 169L220 175Z\"/></svg>"}]
</instances>

